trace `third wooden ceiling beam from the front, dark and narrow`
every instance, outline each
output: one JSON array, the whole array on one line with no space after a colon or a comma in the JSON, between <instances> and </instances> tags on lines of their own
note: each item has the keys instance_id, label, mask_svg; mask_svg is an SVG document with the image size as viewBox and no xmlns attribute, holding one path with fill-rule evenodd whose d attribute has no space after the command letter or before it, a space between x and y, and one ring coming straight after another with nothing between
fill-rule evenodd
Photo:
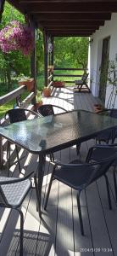
<instances>
[{"instance_id":1,"label":"third wooden ceiling beam from the front, dark and narrow","mask_svg":"<svg viewBox=\"0 0 117 256\"><path fill-rule=\"evenodd\" d=\"M41 21L42 26L103 26L104 20L47 20Z\"/></svg>"}]
</instances>

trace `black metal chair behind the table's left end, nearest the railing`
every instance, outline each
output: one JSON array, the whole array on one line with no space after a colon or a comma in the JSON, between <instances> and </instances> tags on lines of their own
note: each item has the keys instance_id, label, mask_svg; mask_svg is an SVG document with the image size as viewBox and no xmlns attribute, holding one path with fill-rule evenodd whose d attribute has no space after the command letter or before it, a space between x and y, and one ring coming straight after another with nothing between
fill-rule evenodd
<instances>
[{"instance_id":1,"label":"black metal chair behind the table's left end, nearest the railing","mask_svg":"<svg viewBox=\"0 0 117 256\"><path fill-rule=\"evenodd\" d=\"M36 113L35 111L31 110L31 109L26 109L26 108L14 108L14 109L9 109L6 113L5 113L5 120L7 122L7 124L13 124L16 122L20 122L20 121L24 121L27 119L27 114L31 113L34 117L38 117L39 118L39 114ZM11 143L8 141L8 147L7 147L7 159L8 159L8 170L10 168L10 145ZM16 151L16 156L17 156L17 160L14 162L17 163L19 165L19 171L21 172L21 168L20 168L20 157L19 157L19 152L18 152L18 147L17 145L15 145L15 151ZM24 158L24 157L23 157Z\"/></svg>"}]
</instances>

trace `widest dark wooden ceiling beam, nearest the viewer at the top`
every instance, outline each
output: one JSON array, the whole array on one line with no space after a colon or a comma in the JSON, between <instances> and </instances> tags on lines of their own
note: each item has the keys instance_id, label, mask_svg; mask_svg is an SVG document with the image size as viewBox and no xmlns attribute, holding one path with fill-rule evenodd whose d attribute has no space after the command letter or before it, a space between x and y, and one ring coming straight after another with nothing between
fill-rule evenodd
<instances>
[{"instance_id":1,"label":"widest dark wooden ceiling beam, nearest the viewer at the top","mask_svg":"<svg viewBox=\"0 0 117 256\"><path fill-rule=\"evenodd\" d=\"M117 11L117 3L20 3L29 13L109 13Z\"/></svg>"}]
</instances>

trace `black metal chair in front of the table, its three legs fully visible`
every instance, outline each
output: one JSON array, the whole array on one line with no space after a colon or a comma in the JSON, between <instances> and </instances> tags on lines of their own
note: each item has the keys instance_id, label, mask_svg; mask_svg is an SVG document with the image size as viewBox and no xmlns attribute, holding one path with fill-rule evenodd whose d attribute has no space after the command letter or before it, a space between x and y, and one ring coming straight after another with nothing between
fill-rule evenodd
<instances>
[{"instance_id":1,"label":"black metal chair in front of the table, its three legs fully visible","mask_svg":"<svg viewBox=\"0 0 117 256\"><path fill-rule=\"evenodd\" d=\"M96 181L99 177L104 176L106 181L108 199L109 199L109 209L111 209L111 199L109 194L109 180L106 172L109 170L109 166L112 165L117 154L109 154L109 158L105 158L98 162L86 163L80 160L74 160L70 164L56 163L53 167L52 177L47 190L47 198L45 202L44 209L47 208L47 201L51 189L53 179L68 185L70 188L77 190L77 205L81 226L81 235L84 236L83 221L81 216L81 204L80 195L83 189L86 189L91 183Z\"/></svg>"}]
</instances>

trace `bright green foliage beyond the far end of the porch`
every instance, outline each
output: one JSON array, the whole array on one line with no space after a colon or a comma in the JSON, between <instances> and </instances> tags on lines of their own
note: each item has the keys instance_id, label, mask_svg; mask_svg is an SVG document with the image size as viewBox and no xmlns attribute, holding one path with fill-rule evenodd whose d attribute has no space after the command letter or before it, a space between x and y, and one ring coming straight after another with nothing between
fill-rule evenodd
<instances>
[{"instance_id":1,"label":"bright green foliage beyond the far end of the porch","mask_svg":"<svg viewBox=\"0 0 117 256\"><path fill-rule=\"evenodd\" d=\"M88 38L55 38L54 66L86 68L88 44Z\"/></svg>"}]
</instances>

